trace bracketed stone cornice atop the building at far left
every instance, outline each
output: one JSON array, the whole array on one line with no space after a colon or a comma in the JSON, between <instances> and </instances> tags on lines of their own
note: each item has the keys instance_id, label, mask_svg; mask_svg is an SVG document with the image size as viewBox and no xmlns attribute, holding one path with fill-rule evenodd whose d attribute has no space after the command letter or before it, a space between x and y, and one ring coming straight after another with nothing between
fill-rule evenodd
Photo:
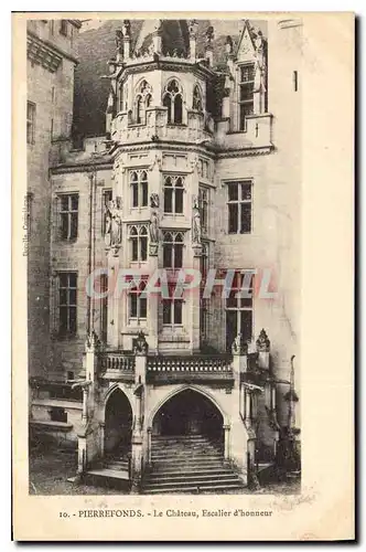
<instances>
[{"instance_id":1,"label":"bracketed stone cornice atop the building at far left","mask_svg":"<svg viewBox=\"0 0 366 552\"><path fill-rule=\"evenodd\" d=\"M75 64L78 63L71 54L55 46L52 42L41 40L32 31L26 33L26 55L32 62L42 65L51 73L57 71L63 57L71 60Z\"/></svg>"}]
</instances>

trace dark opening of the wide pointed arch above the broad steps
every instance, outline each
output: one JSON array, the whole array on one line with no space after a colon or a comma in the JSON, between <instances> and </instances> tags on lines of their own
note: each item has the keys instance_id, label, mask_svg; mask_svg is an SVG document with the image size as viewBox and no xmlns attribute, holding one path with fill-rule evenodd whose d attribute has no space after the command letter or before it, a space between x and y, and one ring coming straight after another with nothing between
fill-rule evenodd
<instances>
[{"instance_id":1,"label":"dark opening of the wide pointed arch above the broad steps","mask_svg":"<svg viewBox=\"0 0 366 552\"><path fill-rule=\"evenodd\" d=\"M152 435L203 435L223 445L224 418L217 406L195 390L184 390L164 402L154 415Z\"/></svg>"}]
</instances>

